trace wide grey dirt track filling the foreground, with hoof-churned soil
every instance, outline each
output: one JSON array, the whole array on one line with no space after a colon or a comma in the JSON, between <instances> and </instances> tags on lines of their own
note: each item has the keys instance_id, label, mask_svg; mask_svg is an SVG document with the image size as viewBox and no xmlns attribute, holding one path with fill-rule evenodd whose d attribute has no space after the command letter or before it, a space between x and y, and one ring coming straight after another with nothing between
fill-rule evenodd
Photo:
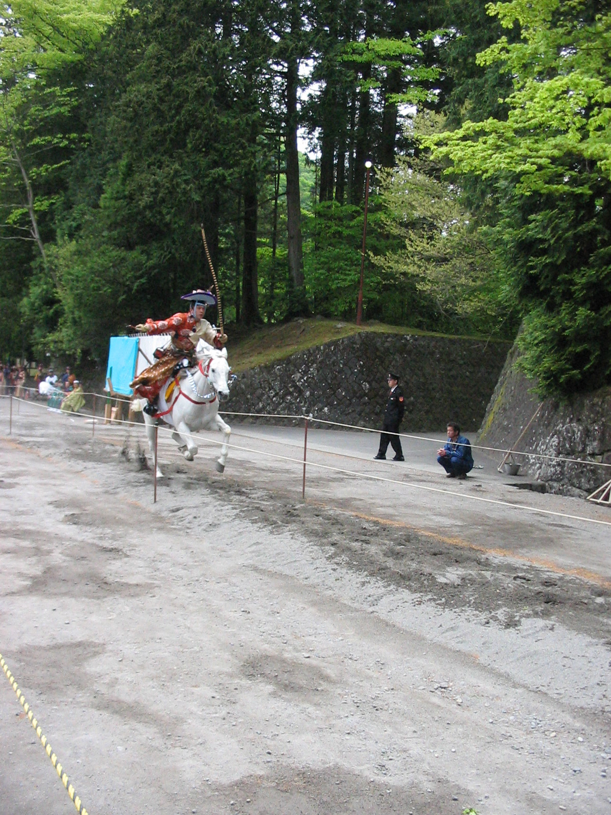
<instances>
[{"instance_id":1,"label":"wide grey dirt track filling the foreground, with hoof-churned soil","mask_svg":"<svg viewBox=\"0 0 611 815\"><path fill-rule=\"evenodd\" d=\"M90 815L611 812L602 569L205 443L163 448L153 505L139 431L96 433L28 408L0 438L0 653ZM2 674L0 716L2 812L74 811Z\"/></svg>"}]
</instances>

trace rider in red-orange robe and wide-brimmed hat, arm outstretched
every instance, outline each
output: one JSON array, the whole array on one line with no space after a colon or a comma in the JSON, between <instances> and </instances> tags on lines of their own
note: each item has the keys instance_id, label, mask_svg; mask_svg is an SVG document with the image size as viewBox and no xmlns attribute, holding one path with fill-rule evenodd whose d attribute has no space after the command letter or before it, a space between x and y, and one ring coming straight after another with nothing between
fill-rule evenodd
<instances>
[{"instance_id":1,"label":"rider in red-orange robe and wide-brimmed hat, arm outstretched","mask_svg":"<svg viewBox=\"0 0 611 815\"><path fill-rule=\"evenodd\" d=\"M204 319L206 306L215 306L217 303L217 298L212 292L196 289L189 294L183 294L181 300L189 303L189 311L186 313L178 312L168 319L149 318L146 323L134 326L139 333L172 334L170 345L161 352L158 361L145 368L130 383L134 394L148 400L143 410L149 416L154 416L157 412L157 397L165 379L180 368L187 368L194 363L193 352L200 339L215 348L222 348L227 341L226 334L217 331L207 319Z\"/></svg>"}]
</instances>

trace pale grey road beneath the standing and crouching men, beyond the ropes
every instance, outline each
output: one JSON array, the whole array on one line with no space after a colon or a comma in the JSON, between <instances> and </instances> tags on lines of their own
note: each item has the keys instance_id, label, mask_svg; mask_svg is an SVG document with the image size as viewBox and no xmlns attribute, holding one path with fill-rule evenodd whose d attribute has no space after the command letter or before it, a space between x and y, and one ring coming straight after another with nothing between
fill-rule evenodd
<instances>
[{"instance_id":1,"label":"pale grey road beneath the standing and crouching men, beyond the ropes","mask_svg":"<svg viewBox=\"0 0 611 815\"><path fill-rule=\"evenodd\" d=\"M233 426L236 447L303 458L302 428ZM377 434L359 430L309 430L306 495L331 500L331 481L333 495L345 508L611 583L611 507L521 489L528 478L499 474L500 453L493 458L476 451L481 469L473 469L464 482L448 480L436 460L445 439L435 434L402 438L404 463L373 460L377 441ZM247 455L231 453L239 460ZM287 469L287 484L298 489L301 470L293 466L292 472ZM345 482L323 467L367 478ZM231 457L227 468L231 471Z\"/></svg>"}]
</instances>

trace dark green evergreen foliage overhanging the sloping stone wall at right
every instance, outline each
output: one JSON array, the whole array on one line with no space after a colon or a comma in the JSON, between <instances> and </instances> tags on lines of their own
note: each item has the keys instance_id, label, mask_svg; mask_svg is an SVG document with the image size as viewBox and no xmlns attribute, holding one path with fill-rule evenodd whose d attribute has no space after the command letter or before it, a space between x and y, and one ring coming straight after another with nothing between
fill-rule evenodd
<instances>
[{"instance_id":1,"label":"dark green evergreen foliage overhanging the sloping stone wall at right","mask_svg":"<svg viewBox=\"0 0 611 815\"><path fill-rule=\"evenodd\" d=\"M520 364L542 395L611 381L611 234L602 200L517 199L491 231L512 259L508 272L525 311Z\"/></svg>"}]
</instances>

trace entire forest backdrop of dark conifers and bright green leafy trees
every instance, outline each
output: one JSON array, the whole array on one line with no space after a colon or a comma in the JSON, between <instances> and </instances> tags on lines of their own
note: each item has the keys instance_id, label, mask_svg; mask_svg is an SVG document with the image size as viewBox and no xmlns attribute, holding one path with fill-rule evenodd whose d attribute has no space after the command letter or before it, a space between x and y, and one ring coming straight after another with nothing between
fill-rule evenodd
<instances>
[{"instance_id":1,"label":"entire forest backdrop of dark conifers and bright green leafy trees","mask_svg":"<svg viewBox=\"0 0 611 815\"><path fill-rule=\"evenodd\" d=\"M284 146L287 66L311 56L298 116L320 155L300 165L312 311L354 319L371 156L366 319L508 336L524 318L522 364L542 390L609 380L609 12L483 8L2 4L2 352L102 359L123 324L173 313L212 284L201 222L226 316L303 305ZM397 138L405 99L460 125L429 120L433 158L413 130Z\"/></svg>"}]
</instances>

